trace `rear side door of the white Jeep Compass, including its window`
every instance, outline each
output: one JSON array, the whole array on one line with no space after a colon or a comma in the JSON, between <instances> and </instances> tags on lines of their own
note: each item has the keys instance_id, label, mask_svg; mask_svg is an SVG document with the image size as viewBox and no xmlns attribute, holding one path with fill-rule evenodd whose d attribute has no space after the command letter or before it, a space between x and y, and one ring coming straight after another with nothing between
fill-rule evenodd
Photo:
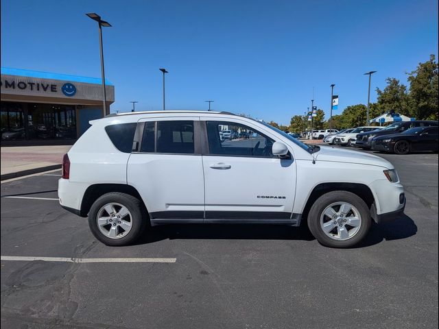
<instances>
[{"instance_id":1,"label":"rear side door of the white Jeep Compass, including its window","mask_svg":"<svg viewBox=\"0 0 439 329\"><path fill-rule=\"evenodd\" d=\"M127 181L152 219L204 217L204 177L198 117L141 120L139 149L128 160ZM200 153L200 152L198 152Z\"/></svg>"}]
</instances>

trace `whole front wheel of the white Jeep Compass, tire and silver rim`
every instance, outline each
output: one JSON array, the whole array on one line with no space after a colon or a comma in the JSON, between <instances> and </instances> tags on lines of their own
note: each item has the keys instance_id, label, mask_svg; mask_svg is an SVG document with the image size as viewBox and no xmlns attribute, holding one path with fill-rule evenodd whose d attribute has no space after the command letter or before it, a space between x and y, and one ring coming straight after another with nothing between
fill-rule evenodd
<instances>
[{"instance_id":1,"label":"whole front wheel of the white Jeep Compass, tire and silver rim","mask_svg":"<svg viewBox=\"0 0 439 329\"><path fill-rule=\"evenodd\" d=\"M356 245L364 239L370 225L368 206L358 195L348 191L326 193L309 210L309 230L327 247Z\"/></svg>"}]
</instances>

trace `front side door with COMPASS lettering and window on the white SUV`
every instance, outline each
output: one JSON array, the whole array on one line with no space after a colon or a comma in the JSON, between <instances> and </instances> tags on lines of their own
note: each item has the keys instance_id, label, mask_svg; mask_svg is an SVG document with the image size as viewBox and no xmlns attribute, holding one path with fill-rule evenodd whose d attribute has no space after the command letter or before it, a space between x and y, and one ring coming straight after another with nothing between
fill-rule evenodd
<instances>
[{"instance_id":1,"label":"front side door with COMPASS lettering and window on the white SUV","mask_svg":"<svg viewBox=\"0 0 439 329\"><path fill-rule=\"evenodd\" d=\"M202 160L206 219L289 219L296 163L272 156L275 137L248 123L201 119L209 136L209 155ZM232 130L233 138L222 141L221 129Z\"/></svg>"}]
</instances>

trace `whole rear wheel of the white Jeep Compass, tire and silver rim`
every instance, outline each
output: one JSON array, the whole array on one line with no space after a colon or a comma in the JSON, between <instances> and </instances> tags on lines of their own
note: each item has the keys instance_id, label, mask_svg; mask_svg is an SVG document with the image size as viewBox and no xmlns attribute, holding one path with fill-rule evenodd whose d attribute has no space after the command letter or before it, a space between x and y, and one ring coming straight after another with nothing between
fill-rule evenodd
<instances>
[{"instance_id":1,"label":"whole rear wheel of the white Jeep Compass, tire and silver rim","mask_svg":"<svg viewBox=\"0 0 439 329\"><path fill-rule=\"evenodd\" d=\"M88 213L93 235L106 245L129 245L136 241L147 223L143 204L126 193L107 193L99 197Z\"/></svg>"}]
</instances>

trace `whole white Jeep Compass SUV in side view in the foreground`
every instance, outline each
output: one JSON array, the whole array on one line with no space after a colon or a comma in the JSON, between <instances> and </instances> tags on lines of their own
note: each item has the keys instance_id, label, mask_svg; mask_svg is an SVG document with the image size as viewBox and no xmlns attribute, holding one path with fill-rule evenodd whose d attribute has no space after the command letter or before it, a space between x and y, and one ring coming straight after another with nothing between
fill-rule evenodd
<instances>
[{"instance_id":1,"label":"whole white Jeep Compass SUV in side view in the foreground","mask_svg":"<svg viewBox=\"0 0 439 329\"><path fill-rule=\"evenodd\" d=\"M106 245L165 223L304 223L323 245L351 247L372 219L396 219L405 207L387 160L309 147L235 114L134 112L90 123L64 155L58 195ZM224 125L249 138L222 143Z\"/></svg>"}]
</instances>

